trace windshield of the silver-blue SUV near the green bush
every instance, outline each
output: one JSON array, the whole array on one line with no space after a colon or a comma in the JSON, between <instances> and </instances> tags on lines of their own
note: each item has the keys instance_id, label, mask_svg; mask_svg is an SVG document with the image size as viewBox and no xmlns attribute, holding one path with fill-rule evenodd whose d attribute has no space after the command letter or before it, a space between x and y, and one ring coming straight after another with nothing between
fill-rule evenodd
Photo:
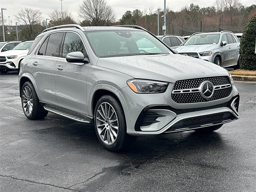
<instances>
[{"instance_id":1,"label":"windshield of the silver-blue SUV near the green bush","mask_svg":"<svg viewBox=\"0 0 256 192\"><path fill-rule=\"evenodd\" d=\"M184 43L184 45L205 45L218 44L219 34L193 35Z\"/></svg>"}]
</instances>

